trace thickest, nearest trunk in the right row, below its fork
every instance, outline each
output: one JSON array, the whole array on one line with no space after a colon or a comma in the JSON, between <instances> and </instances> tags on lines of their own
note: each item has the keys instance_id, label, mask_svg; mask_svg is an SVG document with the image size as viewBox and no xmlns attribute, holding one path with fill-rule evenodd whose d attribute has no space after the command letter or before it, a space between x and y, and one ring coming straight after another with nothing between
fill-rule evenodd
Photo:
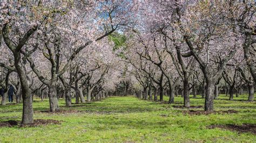
<instances>
[{"instance_id":1,"label":"thickest, nearest trunk in the right row, below its fork","mask_svg":"<svg viewBox=\"0 0 256 143\"><path fill-rule=\"evenodd\" d=\"M212 79L206 79L206 92L205 92L205 111L213 111L213 91L214 82Z\"/></svg>"}]
</instances>

